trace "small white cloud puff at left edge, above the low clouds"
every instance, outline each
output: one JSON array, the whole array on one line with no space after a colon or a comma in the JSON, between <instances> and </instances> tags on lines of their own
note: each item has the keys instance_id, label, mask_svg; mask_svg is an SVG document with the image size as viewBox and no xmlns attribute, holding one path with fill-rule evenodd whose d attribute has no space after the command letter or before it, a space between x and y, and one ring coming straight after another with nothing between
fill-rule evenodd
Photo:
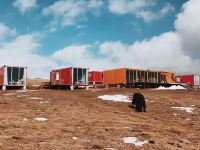
<instances>
[{"instance_id":1,"label":"small white cloud puff at left edge, above the low clouds","mask_svg":"<svg viewBox=\"0 0 200 150\"><path fill-rule=\"evenodd\" d=\"M15 36L16 29L10 29L5 24L0 23L0 41L4 40L7 36Z\"/></svg>"}]
</instances>

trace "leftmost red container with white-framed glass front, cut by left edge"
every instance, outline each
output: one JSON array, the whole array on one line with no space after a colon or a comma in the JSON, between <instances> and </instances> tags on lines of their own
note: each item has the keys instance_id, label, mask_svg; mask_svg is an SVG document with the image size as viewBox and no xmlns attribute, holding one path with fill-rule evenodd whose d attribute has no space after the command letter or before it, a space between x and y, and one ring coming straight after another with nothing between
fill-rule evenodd
<instances>
[{"instance_id":1,"label":"leftmost red container with white-framed glass front, cut by left edge","mask_svg":"<svg viewBox=\"0 0 200 150\"><path fill-rule=\"evenodd\" d=\"M0 68L0 86L2 90L7 87L23 87L26 89L27 67L2 66Z\"/></svg>"}]
</instances>

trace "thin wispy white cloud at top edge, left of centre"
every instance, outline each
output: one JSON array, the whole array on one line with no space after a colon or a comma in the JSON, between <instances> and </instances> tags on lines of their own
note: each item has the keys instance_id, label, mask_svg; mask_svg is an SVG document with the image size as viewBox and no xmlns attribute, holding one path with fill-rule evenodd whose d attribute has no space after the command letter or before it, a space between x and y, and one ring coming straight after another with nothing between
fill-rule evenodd
<instances>
[{"instance_id":1,"label":"thin wispy white cloud at top edge, left of centre","mask_svg":"<svg viewBox=\"0 0 200 150\"><path fill-rule=\"evenodd\" d=\"M57 24L72 26L84 22L87 13L98 14L102 5L102 0L59 0L44 8L42 14L54 16L54 26Z\"/></svg>"}]
</instances>

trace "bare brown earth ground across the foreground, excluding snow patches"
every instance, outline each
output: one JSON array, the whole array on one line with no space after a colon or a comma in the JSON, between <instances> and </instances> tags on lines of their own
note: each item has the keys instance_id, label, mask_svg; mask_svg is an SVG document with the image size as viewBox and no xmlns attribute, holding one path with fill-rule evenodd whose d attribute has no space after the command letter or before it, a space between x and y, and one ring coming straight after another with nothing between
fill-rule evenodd
<instances>
[{"instance_id":1,"label":"bare brown earth ground across the foreground, excluding snow patches","mask_svg":"<svg viewBox=\"0 0 200 150\"><path fill-rule=\"evenodd\" d=\"M143 93L149 100L147 113L134 112L127 103L97 99L105 94L134 92ZM33 97L42 99L30 99ZM195 105L193 113L171 108L191 105ZM0 108L1 150L200 149L199 90L0 91ZM48 121L38 122L35 117ZM126 136L150 143L137 148L122 142Z\"/></svg>"}]
</instances>

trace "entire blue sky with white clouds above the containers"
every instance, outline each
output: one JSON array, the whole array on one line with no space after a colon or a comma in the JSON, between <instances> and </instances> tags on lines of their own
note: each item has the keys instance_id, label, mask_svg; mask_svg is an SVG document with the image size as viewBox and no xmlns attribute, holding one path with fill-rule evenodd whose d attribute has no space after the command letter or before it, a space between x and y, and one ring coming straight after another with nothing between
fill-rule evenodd
<instances>
[{"instance_id":1,"label":"entire blue sky with white clouds above the containers","mask_svg":"<svg viewBox=\"0 0 200 150\"><path fill-rule=\"evenodd\" d=\"M200 74L200 0L0 0L0 65Z\"/></svg>"}]
</instances>

